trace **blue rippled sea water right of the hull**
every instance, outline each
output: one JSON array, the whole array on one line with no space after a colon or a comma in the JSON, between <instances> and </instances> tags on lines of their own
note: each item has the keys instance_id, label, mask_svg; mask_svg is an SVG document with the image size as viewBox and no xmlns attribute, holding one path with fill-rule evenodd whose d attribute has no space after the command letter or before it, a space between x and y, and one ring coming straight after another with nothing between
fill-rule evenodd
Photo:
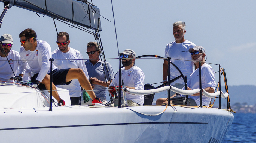
<instances>
[{"instance_id":1,"label":"blue rippled sea water right of the hull","mask_svg":"<svg viewBox=\"0 0 256 143\"><path fill-rule=\"evenodd\" d=\"M256 142L256 114L234 113L234 121L223 143Z\"/></svg>"}]
</instances>

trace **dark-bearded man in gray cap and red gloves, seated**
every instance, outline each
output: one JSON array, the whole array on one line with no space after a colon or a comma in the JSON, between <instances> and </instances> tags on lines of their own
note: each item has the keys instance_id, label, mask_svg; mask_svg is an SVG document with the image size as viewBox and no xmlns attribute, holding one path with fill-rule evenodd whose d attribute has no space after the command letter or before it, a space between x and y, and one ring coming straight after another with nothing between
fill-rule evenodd
<instances>
[{"instance_id":1,"label":"dark-bearded man in gray cap and red gloves, seated","mask_svg":"<svg viewBox=\"0 0 256 143\"><path fill-rule=\"evenodd\" d=\"M121 75L124 82L124 86L130 89L144 90L145 75L142 70L134 66L136 54L133 50L126 49L118 56L122 58L123 68L121 68ZM115 78L110 83L108 89L111 95L114 97L118 92L119 71ZM121 93L122 94L122 93ZM122 96L122 95L121 95ZM128 106L139 106L144 103L144 95L134 95L126 93L126 99Z\"/></svg>"}]
</instances>

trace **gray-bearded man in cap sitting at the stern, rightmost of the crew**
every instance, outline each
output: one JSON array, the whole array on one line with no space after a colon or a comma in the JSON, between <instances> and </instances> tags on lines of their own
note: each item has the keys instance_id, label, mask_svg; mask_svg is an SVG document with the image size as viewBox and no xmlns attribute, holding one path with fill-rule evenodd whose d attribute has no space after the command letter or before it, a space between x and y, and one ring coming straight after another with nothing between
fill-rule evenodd
<instances>
[{"instance_id":1,"label":"gray-bearded man in cap sitting at the stern, rightmost of the crew","mask_svg":"<svg viewBox=\"0 0 256 143\"><path fill-rule=\"evenodd\" d=\"M212 67L205 63L206 52L202 46L195 46L188 50L191 53L192 61L195 63L195 71L190 75L187 83L187 90L193 90L199 88L199 61L201 61L201 76L202 76L202 88L209 92L214 93L216 86L215 83L215 72ZM184 90L184 87L183 87ZM174 97L173 95L172 97ZM186 95L182 95L186 96ZM190 106L199 106L200 98L199 93L188 95L188 100L186 105ZM202 105L209 106L211 98L202 95ZM156 105L161 105L163 103L168 104L168 98L159 98L157 99ZM172 101L171 101L172 103Z\"/></svg>"}]
</instances>

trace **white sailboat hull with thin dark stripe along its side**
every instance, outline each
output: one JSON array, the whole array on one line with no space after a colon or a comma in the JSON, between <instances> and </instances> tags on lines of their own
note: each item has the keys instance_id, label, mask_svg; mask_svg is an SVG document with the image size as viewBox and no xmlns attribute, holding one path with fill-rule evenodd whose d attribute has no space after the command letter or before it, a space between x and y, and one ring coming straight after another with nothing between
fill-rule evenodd
<instances>
[{"instance_id":1,"label":"white sailboat hull with thin dark stripe along its side","mask_svg":"<svg viewBox=\"0 0 256 143\"><path fill-rule=\"evenodd\" d=\"M234 118L216 108L165 108L1 109L0 138L1 142L222 142Z\"/></svg>"}]
</instances>

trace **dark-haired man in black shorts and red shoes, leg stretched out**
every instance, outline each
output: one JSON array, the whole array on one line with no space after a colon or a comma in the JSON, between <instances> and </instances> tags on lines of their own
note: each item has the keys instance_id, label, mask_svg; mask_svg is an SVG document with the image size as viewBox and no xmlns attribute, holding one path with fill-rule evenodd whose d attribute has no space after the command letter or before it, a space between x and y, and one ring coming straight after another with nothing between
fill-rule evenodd
<instances>
[{"instance_id":1,"label":"dark-haired man in black shorts and red shoes, leg stretched out","mask_svg":"<svg viewBox=\"0 0 256 143\"><path fill-rule=\"evenodd\" d=\"M31 83L28 83L26 86L50 90L50 45L45 41L36 40L36 32L31 28L22 31L19 37L22 46L20 48L21 62L28 63L32 74ZM19 69L20 71L25 71L26 66L20 65ZM92 103L102 103L99 98L96 98L92 86L83 70L77 68L58 70L54 64L52 69L53 97L58 101L59 106L65 106L65 101L60 98L55 85L68 85L73 79L78 79L80 85L87 90L88 94L93 99Z\"/></svg>"}]
</instances>

